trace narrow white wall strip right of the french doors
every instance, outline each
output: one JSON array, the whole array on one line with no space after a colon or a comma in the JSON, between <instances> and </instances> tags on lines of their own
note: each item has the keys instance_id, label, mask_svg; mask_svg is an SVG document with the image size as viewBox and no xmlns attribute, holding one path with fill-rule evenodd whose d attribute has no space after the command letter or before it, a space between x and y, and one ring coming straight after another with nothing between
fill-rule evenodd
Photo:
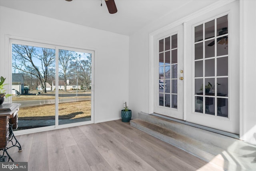
<instances>
[{"instance_id":1,"label":"narrow white wall strip right of the french doors","mask_svg":"<svg viewBox=\"0 0 256 171\"><path fill-rule=\"evenodd\" d=\"M256 144L256 1L241 1L241 8L240 132L242 139Z\"/></svg>"}]
</instances>

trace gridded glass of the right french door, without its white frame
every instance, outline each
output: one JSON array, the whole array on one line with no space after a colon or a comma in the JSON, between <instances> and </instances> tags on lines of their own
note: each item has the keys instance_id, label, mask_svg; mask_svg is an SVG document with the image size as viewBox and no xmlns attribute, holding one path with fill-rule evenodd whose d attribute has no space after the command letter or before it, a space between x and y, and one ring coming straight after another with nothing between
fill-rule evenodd
<instances>
[{"instance_id":1,"label":"gridded glass of the right french door, without its white frame","mask_svg":"<svg viewBox=\"0 0 256 171\"><path fill-rule=\"evenodd\" d=\"M228 117L228 15L194 27L195 112Z\"/></svg>"}]
</instances>

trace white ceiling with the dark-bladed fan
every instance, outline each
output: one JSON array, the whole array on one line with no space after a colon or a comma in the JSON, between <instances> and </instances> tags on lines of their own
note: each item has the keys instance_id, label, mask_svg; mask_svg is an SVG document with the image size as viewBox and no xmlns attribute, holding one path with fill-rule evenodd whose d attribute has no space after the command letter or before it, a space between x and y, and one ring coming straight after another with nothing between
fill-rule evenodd
<instances>
[{"instance_id":1,"label":"white ceiling with the dark-bladed fan","mask_svg":"<svg viewBox=\"0 0 256 171\"><path fill-rule=\"evenodd\" d=\"M130 35L162 16L182 11L198 0L115 0L118 12L109 14L102 0L0 0L0 6L83 26ZM211 1L209 1L210 3Z\"/></svg>"}]
</instances>

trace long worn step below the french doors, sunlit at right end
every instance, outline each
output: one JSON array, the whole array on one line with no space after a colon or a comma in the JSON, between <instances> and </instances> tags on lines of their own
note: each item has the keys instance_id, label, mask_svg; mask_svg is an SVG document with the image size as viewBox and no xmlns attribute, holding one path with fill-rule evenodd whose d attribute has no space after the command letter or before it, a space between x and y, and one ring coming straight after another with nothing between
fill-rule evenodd
<instances>
[{"instance_id":1,"label":"long worn step below the french doors, sunlit at right end","mask_svg":"<svg viewBox=\"0 0 256 171\"><path fill-rule=\"evenodd\" d=\"M130 125L218 167L256 170L255 145L146 113L139 113L139 117Z\"/></svg>"}]
</instances>

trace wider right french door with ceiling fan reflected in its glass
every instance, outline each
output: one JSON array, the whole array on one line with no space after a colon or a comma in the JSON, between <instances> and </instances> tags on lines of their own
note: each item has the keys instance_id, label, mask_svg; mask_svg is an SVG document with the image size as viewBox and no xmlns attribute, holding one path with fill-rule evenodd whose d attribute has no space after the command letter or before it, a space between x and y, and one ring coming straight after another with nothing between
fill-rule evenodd
<instances>
[{"instance_id":1,"label":"wider right french door with ceiling fan reflected in its glass","mask_svg":"<svg viewBox=\"0 0 256 171\"><path fill-rule=\"evenodd\" d=\"M186 121L239 134L238 3L187 23ZM226 12L229 10L228 12Z\"/></svg>"}]
</instances>

